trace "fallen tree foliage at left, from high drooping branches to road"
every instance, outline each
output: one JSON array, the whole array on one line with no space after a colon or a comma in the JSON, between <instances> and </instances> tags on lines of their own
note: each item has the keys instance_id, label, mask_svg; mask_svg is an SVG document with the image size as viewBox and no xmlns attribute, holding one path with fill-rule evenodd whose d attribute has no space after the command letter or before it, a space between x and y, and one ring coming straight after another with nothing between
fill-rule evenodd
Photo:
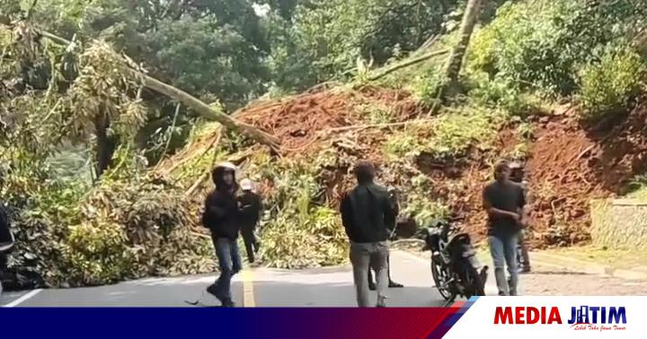
<instances>
[{"instance_id":1,"label":"fallen tree foliage at left, from high drooping branches to road","mask_svg":"<svg viewBox=\"0 0 647 339\"><path fill-rule=\"evenodd\" d=\"M198 218L181 187L145 173L135 139L146 107L123 58L102 41L61 52L22 22L3 32L14 63L2 69L2 196L13 211L18 245L9 267L17 280L79 286L211 271L208 238L191 235ZM66 63L59 53L75 48L76 74L66 80L53 70ZM23 63L49 61L51 73L21 72ZM84 144L94 146L94 174L102 175L93 187L74 177L85 161L54 167L59 145Z\"/></svg>"}]
</instances>

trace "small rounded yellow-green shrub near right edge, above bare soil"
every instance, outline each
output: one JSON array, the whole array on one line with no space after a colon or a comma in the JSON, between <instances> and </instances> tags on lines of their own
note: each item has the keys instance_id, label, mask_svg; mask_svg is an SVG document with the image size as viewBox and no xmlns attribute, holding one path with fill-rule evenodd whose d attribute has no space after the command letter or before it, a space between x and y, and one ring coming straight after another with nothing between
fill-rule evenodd
<instances>
[{"instance_id":1,"label":"small rounded yellow-green shrub near right edge, above bare soil","mask_svg":"<svg viewBox=\"0 0 647 339\"><path fill-rule=\"evenodd\" d=\"M609 47L596 63L584 65L580 72L580 100L584 118L598 120L626 109L641 90L645 65L629 48Z\"/></svg>"}]
</instances>

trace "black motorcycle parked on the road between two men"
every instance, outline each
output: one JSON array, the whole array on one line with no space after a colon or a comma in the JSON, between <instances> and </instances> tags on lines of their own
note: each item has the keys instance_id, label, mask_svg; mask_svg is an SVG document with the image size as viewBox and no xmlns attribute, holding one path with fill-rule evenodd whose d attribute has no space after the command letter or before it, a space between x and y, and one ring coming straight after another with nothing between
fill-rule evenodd
<instances>
[{"instance_id":1,"label":"black motorcycle parked on the road between two men","mask_svg":"<svg viewBox=\"0 0 647 339\"><path fill-rule=\"evenodd\" d=\"M436 222L424 230L424 250L431 251L431 275L440 295L453 302L485 295L488 266L482 266L467 233L457 233L450 222Z\"/></svg>"}]
</instances>

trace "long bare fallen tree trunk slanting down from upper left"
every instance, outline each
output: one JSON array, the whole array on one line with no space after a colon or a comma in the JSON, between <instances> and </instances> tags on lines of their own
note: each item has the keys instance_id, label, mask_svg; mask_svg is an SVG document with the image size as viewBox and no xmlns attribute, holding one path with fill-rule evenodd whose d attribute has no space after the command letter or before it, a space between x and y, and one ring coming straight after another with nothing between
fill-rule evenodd
<instances>
[{"instance_id":1,"label":"long bare fallen tree trunk slanting down from upper left","mask_svg":"<svg viewBox=\"0 0 647 339\"><path fill-rule=\"evenodd\" d=\"M39 30L39 33L42 37L48 38L58 44L72 44L72 41L61 38L55 34L49 33L48 31ZM280 151L280 139L276 136L265 133L252 125L236 121L233 117L229 117L226 114L217 112L216 110L209 108L206 103L198 100L185 91L175 88L169 84L163 83L135 69L133 69L132 72L134 75L141 77L144 85L149 89L158 91L166 96L173 98L174 100L180 101L183 104L187 105L189 108L198 112L200 116L207 117L210 120L216 120L227 128L243 133L244 135L248 135L258 143L270 146L270 148L275 152Z\"/></svg>"}]
</instances>

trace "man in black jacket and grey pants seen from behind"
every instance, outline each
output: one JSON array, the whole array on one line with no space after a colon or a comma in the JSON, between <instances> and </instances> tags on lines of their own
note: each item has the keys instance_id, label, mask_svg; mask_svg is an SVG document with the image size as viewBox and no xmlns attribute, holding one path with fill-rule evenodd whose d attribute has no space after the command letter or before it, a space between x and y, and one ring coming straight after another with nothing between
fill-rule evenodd
<instances>
[{"instance_id":1,"label":"man in black jacket and grey pants seen from behind","mask_svg":"<svg viewBox=\"0 0 647 339\"><path fill-rule=\"evenodd\" d=\"M388 228L393 228L397 208L385 187L376 185L375 168L359 162L355 169L358 186L341 200L341 220L350 239L350 263L359 307L369 307L368 270L376 271L377 307L386 307L388 287Z\"/></svg>"}]
</instances>

